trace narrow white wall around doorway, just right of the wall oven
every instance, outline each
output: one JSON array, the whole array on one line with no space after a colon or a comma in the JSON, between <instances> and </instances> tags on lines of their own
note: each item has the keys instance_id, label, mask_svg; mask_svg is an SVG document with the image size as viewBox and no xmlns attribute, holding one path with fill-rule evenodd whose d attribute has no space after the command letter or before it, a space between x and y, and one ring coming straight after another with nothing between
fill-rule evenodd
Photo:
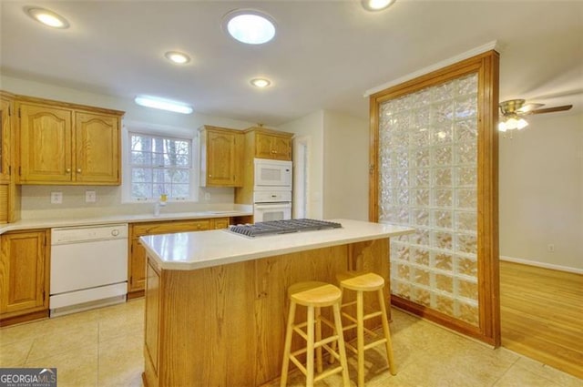
<instances>
[{"instance_id":1,"label":"narrow white wall around doorway, just right of the wall oven","mask_svg":"<svg viewBox=\"0 0 583 387\"><path fill-rule=\"evenodd\" d=\"M297 149L295 145L298 140L305 141L308 144L308 203L306 217L312 219L323 218L323 116L324 112L319 110L279 127L282 131L295 133L293 148ZM296 155L294 155L294 158L296 158ZM298 194L297 191L294 195L296 194ZM294 199L294 201L296 200Z\"/></svg>"}]
</instances>

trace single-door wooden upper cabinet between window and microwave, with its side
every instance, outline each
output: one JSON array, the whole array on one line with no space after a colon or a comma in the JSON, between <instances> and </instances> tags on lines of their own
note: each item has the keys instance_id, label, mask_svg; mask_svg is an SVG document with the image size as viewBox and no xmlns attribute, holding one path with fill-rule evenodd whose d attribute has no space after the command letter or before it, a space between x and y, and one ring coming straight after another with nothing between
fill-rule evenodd
<instances>
[{"instance_id":1,"label":"single-door wooden upper cabinet between window and microwave, with its side","mask_svg":"<svg viewBox=\"0 0 583 387\"><path fill-rule=\"evenodd\" d=\"M200 186L240 187L243 144L240 130L204 126L200 134Z\"/></svg>"}]
</instances>

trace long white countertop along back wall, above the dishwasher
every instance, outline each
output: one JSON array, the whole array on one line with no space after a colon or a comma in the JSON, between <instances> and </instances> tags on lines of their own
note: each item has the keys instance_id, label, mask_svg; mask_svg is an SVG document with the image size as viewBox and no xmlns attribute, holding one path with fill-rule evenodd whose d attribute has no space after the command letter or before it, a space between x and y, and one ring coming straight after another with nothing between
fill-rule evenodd
<instances>
[{"instance_id":1,"label":"long white countertop along back wall, above the dishwasher","mask_svg":"<svg viewBox=\"0 0 583 387\"><path fill-rule=\"evenodd\" d=\"M169 212L161 213L159 216L153 214L139 215L113 215L103 217L89 218L64 218L64 219L26 219L18 220L14 223L0 225L0 234L7 231L16 231L22 229L54 229L57 227L75 227L75 226L95 226L100 224L114 223L139 223L147 221L160 220L179 220L179 219L209 219L209 218L230 218L253 215L252 209L228 209L228 210L208 210L196 212Z\"/></svg>"}]
</instances>

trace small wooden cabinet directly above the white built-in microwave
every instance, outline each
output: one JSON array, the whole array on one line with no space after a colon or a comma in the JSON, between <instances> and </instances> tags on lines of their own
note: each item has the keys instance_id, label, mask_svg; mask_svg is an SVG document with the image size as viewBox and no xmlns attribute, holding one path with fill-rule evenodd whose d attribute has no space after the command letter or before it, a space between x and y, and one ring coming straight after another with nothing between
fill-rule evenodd
<instances>
[{"instance_id":1,"label":"small wooden cabinet directly above the white built-in microwave","mask_svg":"<svg viewBox=\"0 0 583 387\"><path fill-rule=\"evenodd\" d=\"M263 127L250 127L245 130L254 143L255 158L273 160L292 160L292 133L279 132Z\"/></svg>"}]
</instances>

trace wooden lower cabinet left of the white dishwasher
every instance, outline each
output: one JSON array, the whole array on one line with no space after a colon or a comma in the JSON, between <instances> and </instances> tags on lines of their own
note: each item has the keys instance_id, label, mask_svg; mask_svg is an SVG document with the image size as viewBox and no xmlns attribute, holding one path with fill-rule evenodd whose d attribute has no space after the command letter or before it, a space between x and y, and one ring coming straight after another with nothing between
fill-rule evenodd
<instances>
[{"instance_id":1,"label":"wooden lower cabinet left of the white dishwasher","mask_svg":"<svg viewBox=\"0 0 583 387\"><path fill-rule=\"evenodd\" d=\"M48 316L48 230L0 236L0 325Z\"/></svg>"}]
</instances>

